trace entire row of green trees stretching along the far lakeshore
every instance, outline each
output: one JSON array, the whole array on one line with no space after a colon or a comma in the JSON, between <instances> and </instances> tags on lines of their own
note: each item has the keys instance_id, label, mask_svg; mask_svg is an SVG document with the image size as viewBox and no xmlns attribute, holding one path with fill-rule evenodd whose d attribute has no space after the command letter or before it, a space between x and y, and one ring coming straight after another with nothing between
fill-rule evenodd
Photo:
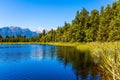
<instances>
[{"instance_id":1,"label":"entire row of green trees stretching along the far lakeshore","mask_svg":"<svg viewBox=\"0 0 120 80\"><path fill-rule=\"evenodd\" d=\"M36 37L0 36L3 42L94 42L94 41L119 41L120 40L120 0L112 5L102 6L88 12L85 8L77 11L71 23L65 22L64 26L56 30L43 30Z\"/></svg>"}]
</instances>

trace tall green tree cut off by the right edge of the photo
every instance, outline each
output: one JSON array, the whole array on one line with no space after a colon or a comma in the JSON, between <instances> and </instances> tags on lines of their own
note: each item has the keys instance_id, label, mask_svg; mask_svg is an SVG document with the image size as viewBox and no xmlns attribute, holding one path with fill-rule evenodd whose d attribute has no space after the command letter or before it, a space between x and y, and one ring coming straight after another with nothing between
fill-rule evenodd
<instances>
[{"instance_id":1,"label":"tall green tree cut off by the right edge of the photo","mask_svg":"<svg viewBox=\"0 0 120 80\"><path fill-rule=\"evenodd\" d=\"M120 40L120 0L113 3L112 15L108 41L117 41Z\"/></svg>"}]
</instances>

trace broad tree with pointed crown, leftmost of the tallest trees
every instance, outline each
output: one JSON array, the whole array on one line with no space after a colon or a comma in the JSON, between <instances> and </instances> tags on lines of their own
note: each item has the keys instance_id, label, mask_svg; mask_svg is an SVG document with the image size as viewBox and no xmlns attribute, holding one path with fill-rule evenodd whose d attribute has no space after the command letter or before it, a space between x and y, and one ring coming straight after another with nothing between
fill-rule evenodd
<instances>
[{"instance_id":1,"label":"broad tree with pointed crown, leftmost of the tallest trees","mask_svg":"<svg viewBox=\"0 0 120 80\"><path fill-rule=\"evenodd\" d=\"M87 28L87 23L89 21L89 12L83 8L81 12L75 17L73 20L73 26L75 27L75 41L77 42L84 42L86 34L85 34L85 29ZM75 24L76 23L76 24Z\"/></svg>"}]
</instances>

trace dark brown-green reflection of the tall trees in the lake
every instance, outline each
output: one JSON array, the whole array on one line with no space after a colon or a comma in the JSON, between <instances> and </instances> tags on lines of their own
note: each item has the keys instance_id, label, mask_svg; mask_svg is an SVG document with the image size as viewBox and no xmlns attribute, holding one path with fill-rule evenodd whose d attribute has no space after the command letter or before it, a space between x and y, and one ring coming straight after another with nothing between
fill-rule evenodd
<instances>
[{"instance_id":1,"label":"dark brown-green reflection of the tall trees in the lake","mask_svg":"<svg viewBox=\"0 0 120 80\"><path fill-rule=\"evenodd\" d=\"M89 51L78 51L73 47L58 47L57 52L58 61L63 62L65 66L72 65L76 80L79 78L100 80L98 66Z\"/></svg>"}]
</instances>

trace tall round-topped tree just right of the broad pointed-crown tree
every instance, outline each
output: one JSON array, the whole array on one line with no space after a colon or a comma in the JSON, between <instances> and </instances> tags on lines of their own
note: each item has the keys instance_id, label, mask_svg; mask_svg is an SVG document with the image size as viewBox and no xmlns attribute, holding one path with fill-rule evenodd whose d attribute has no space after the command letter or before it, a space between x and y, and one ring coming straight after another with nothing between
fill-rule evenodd
<instances>
[{"instance_id":1,"label":"tall round-topped tree just right of the broad pointed-crown tree","mask_svg":"<svg viewBox=\"0 0 120 80\"><path fill-rule=\"evenodd\" d=\"M99 27L99 12L97 10L92 10L88 29L86 32L86 38L88 42L96 41L98 27Z\"/></svg>"}]
</instances>

